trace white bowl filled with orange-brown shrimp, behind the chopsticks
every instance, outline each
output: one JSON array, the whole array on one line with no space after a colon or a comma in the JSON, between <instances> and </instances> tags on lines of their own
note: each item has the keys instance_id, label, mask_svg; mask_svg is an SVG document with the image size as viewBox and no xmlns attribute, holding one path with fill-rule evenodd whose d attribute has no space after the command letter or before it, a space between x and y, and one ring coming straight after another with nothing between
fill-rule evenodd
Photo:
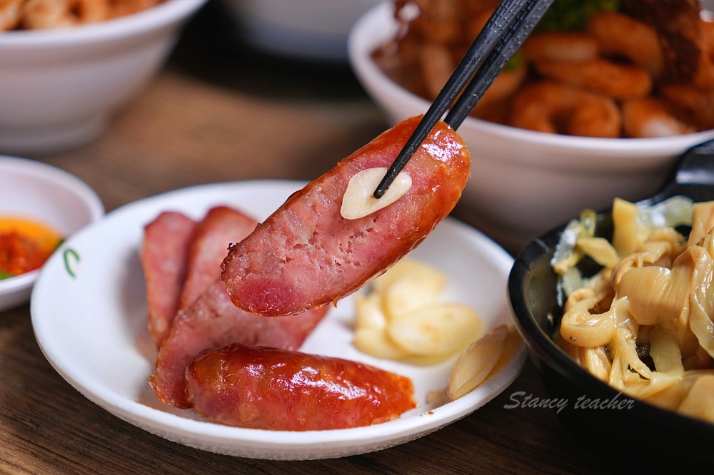
<instances>
[{"instance_id":1,"label":"white bowl filled with orange-brown shrimp, behind the chopsticks","mask_svg":"<svg viewBox=\"0 0 714 475\"><path fill-rule=\"evenodd\" d=\"M647 1L623 1L622 6L644 9ZM553 8L561 2L567 3L557 0ZM595 3L613 4L605 0ZM488 18L490 10L485 6L495 4L388 1L355 24L349 41L351 65L389 121L426 111L440 84ZM690 2L683 0L683 4ZM411 17L405 20L403 15L418 15L418 6L429 16L412 26ZM396 7L400 7L401 20L395 18ZM621 15L619 9L600 13L605 19L623 19ZM454 18L458 24L453 23ZM648 23L638 19L638 25ZM666 29L666 23L663 25ZM708 28L697 25L695 31ZM653 28L646 31L651 33ZM658 36L660 43L673 34L665 33ZM643 54L645 59L638 58L641 66L636 66L622 56L603 53L605 48L594 37L582 31L548 35L535 31L529 39L532 42L527 41L518 51L480 101L474 116L466 118L458 129L474 155L471 180L458 212L511 250L520 249L583 208L605 209L615 196L638 200L650 195L663 183L678 155L714 137L710 122L697 122L697 114L683 111L688 104L702 104L693 98L685 102L693 86L668 80L669 92L678 94L674 102L680 110L663 106L659 78L679 77L670 63L658 63L657 58L646 59ZM396 39L402 39L403 44ZM563 47L564 43L568 47ZM703 46L696 51L696 63L705 62L708 55ZM549 56L545 59L538 56L546 53ZM568 55L575 57L568 59ZM694 71L695 62L687 57L688 68ZM605 77L609 79L603 81ZM582 83L586 80L588 87ZM655 90L658 95L651 95ZM698 96L692 96L706 96L697 91ZM706 110L700 108L700 116ZM648 121L640 120L643 117ZM660 136L639 137L648 135L648 131L659 131ZM662 131L670 135L661 136Z\"/></svg>"}]
</instances>

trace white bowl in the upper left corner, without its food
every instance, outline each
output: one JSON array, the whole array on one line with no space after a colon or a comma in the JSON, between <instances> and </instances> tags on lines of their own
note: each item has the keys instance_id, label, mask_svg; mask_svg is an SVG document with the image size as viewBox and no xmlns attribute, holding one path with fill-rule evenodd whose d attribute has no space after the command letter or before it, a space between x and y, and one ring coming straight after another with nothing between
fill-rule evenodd
<instances>
[{"instance_id":1,"label":"white bowl in the upper left corner, without its food","mask_svg":"<svg viewBox=\"0 0 714 475\"><path fill-rule=\"evenodd\" d=\"M56 153L100 136L205 2L167 0L96 24L1 33L0 153Z\"/></svg>"}]
</instances>

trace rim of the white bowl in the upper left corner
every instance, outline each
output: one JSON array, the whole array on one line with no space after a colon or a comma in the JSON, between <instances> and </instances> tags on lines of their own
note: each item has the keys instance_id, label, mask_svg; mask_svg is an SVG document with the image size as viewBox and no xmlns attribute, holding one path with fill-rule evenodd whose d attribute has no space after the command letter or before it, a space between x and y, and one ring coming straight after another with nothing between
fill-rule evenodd
<instances>
[{"instance_id":1,"label":"rim of the white bowl in the upper left corner","mask_svg":"<svg viewBox=\"0 0 714 475\"><path fill-rule=\"evenodd\" d=\"M60 48L126 38L188 18L208 0L166 0L116 19L58 29L11 30L0 34L0 51Z\"/></svg>"}]
</instances>

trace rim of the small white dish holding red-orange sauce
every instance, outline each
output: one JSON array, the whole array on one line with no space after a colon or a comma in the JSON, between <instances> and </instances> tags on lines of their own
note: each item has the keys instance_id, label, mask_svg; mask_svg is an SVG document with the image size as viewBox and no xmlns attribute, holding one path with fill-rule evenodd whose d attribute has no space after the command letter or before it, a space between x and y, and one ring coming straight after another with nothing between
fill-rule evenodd
<instances>
[{"instance_id":1,"label":"rim of the small white dish holding red-orange sauce","mask_svg":"<svg viewBox=\"0 0 714 475\"><path fill-rule=\"evenodd\" d=\"M71 190L86 205L89 212L87 224L94 223L104 216L104 203L101 202L99 195L84 181L68 171L47 163L10 155L0 155L0 168L20 173L33 173L40 180L58 183L63 188ZM33 285L40 271L41 269L36 269L0 280L0 294L7 295Z\"/></svg>"}]
</instances>

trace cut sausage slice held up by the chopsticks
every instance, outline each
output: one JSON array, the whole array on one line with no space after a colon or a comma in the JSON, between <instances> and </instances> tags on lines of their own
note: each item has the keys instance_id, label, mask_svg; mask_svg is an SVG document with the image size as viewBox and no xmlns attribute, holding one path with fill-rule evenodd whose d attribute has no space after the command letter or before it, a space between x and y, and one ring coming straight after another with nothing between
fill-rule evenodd
<instances>
[{"instance_id":1,"label":"cut sausage slice held up by the chopsticks","mask_svg":"<svg viewBox=\"0 0 714 475\"><path fill-rule=\"evenodd\" d=\"M413 250L451 212L471 158L440 122L404 168L412 187L386 208L356 220L340 213L350 178L388 167L421 117L382 133L325 175L293 193L223 260L223 281L243 310L275 317L337 302Z\"/></svg>"}]
</instances>

